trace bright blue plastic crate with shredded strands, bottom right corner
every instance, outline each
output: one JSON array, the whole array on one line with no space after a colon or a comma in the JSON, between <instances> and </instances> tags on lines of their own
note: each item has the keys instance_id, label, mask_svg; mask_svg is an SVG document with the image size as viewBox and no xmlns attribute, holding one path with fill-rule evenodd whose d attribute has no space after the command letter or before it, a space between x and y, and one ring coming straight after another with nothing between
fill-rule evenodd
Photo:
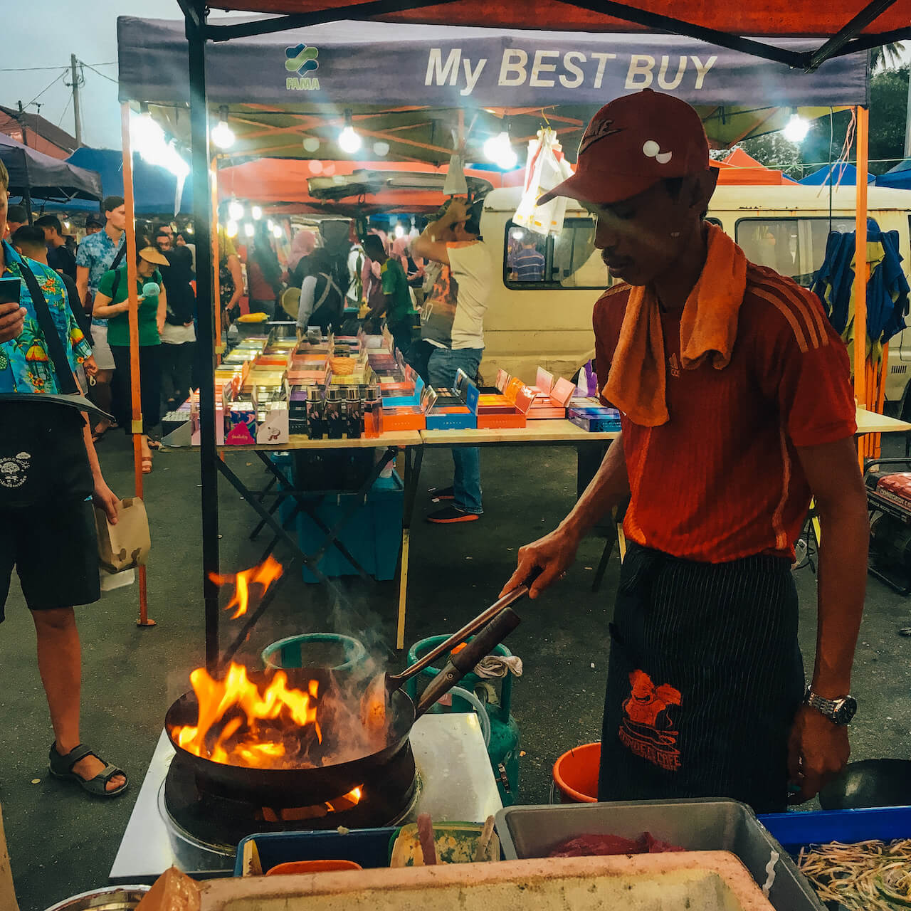
<instances>
[{"instance_id":1,"label":"bright blue plastic crate with shredded strands, bottom right corner","mask_svg":"<svg viewBox=\"0 0 911 911\"><path fill-rule=\"evenodd\" d=\"M759 821L791 854L807 844L911 838L911 806L771 813Z\"/></svg>"}]
</instances>

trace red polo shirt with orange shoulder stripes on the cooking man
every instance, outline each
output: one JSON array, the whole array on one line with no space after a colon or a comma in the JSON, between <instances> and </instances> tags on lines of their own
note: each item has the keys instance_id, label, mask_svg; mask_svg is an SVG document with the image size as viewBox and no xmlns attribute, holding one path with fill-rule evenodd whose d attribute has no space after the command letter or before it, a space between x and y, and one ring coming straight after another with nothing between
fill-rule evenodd
<instances>
[{"instance_id":1,"label":"red polo shirt with orange shoulder stripes on the cooking man","mask_svg":"<svg viewBox=\"0 0 911 911\"><path fill-rule=\"evenodd\" d=\"M630 288L595 304L601 387ZM682 311L662 312L670 421L621 415L630 476L623 530L641 545L709 563L775 554L793 559L810 503L798 446L855 434L844 343L814 294L748 264L731 363L680 366Z\"/></svg>"}]
</instances>

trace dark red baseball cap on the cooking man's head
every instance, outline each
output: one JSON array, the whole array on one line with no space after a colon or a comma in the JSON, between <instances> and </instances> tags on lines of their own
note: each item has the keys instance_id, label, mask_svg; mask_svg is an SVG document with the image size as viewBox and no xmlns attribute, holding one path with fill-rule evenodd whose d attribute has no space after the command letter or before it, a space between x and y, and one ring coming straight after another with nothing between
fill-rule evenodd
<instances>
[{"instance_id":1,"label":"dark red baseball cap on the cooking man's head","mask_svg":"<svg viewBox=\"0 0 911 911\"><path fill-rule=\"evenodd\" d=\"M709 140L696 111L681 98L645 88L614 98L591 118L578 146L576 173L545 193L610 205L659 180L709 169Z\"/></svg>"}]
</instances>

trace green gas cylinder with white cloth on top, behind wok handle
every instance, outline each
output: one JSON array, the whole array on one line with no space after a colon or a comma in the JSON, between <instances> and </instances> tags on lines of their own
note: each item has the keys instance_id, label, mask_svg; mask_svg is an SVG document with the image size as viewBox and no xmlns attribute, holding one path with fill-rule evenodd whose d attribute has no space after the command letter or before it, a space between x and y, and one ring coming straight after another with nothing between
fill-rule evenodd
<instances>
[{"instance_id":1,"label":"green gas cylinder with white cloth on top, behind wok handle","mask_svg":"<svg viewBox=\"0 0 911 911\"><path fill-rule=\"evenodd\" d=\"M408 664L414 664L428 651L448 638L448 636L430 636L415 642L408 650ZM503 658L512 656L512 652L505 645L497 645L491 654ZM411 698L416 701L417 694L423 691L427 683L439 672L439 668L425 668L416 677L407 681L405 689ZM488 683L492 684L494 691L497 692L499 704L490 700L490 691L486 686ZM504 806L515 804L518 796L519 732L516 719L509 711L512 706L512 684L513 675L511 673L507 673L506 677L483 681L476 674L466 674L459 683L460 687L473 691L478 699L485 703L487 718L490 721L490 742L487 745L487 755L490 757L496 787ZM430 711L444 711L444 709L437 704ZM465 699L453 696L450 711L475 711L475 708Z\"/></svg>"}]
</instances>

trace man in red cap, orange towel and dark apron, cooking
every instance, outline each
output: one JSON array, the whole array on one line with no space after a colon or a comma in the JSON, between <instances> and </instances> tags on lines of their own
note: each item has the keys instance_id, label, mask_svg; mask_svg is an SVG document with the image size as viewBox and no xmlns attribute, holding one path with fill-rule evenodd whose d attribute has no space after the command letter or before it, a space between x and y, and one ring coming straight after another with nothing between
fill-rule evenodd
<instances>
[{"instance_id":1,"label":"man in red cap, orange towel and dark apron, cooking","mask_svg":"<svg viewBox=\"0 0 911 911\"><path fill-rule=\"evenodd\" d=\"M646 90L592 118L576 174L615 284L595 305L601 397L622 433L504 591L561 578L627 498L600 800L727 796L783 810L847 762L868 525L844 344L818 300L704 221L696 112ZM811 494L824 528L809 687L791 574Z\"/></svg>"}]
</instances>

